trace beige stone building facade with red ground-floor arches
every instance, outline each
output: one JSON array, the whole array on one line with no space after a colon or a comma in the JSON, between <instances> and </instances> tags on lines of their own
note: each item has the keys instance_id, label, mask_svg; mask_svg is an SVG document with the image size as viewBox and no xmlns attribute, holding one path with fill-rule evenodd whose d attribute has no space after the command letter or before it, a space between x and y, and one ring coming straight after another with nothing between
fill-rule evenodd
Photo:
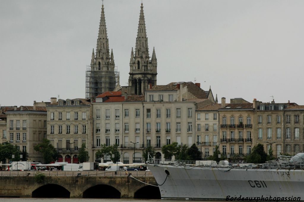
<instances>
[{"instance_id":1,"label":"beige stone building facade with red ground-floor arches","mask_svg":"<svg viewBox=\"0 0 304 202\"><path fill-rule=\"evenodd\" d=\"M47 105L47 138L59 152L58 162L78 163L85 143L92 160L92 110L87 99L51 98ZM71 161L72 156L72 161Z\"/></svg>"}]
</instances>

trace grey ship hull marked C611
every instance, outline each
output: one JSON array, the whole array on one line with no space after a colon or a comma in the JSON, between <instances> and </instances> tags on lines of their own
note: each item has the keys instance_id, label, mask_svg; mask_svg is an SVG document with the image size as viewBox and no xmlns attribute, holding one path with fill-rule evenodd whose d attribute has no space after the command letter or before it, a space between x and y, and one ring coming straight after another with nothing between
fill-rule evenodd
<instances>
[{"instance_id":1,"label":"grey ship hull marked C611","mask_svg":"<svg viewBox=\"0 0 304 202\"><path fill-rule=\"evenodd\" d=\"M304 201L304 171L300 169L148 167L162 199Z\"/></svg>"}]
</instances>

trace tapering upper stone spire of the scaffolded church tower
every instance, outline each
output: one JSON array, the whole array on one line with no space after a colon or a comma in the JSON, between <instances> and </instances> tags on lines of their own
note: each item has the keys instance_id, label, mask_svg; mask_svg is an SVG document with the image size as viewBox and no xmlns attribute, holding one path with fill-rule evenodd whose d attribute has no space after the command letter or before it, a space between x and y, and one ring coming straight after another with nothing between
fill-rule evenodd
<instances>
[{"instance_id":1,"label":"tapering upper stone spire of the scaffolded church tower","mask_svg":"<svg viewBox=\"0 0 304 202\"><path fill-rule=\"evenodd\" d=\"M107 35L107 28L105 26L105 12L102 4L101 8L101 17L99 23L99 32L97 39L97 47L96 47L96 58L109 58L109 39Z\"/></svg>"}]
</instances>

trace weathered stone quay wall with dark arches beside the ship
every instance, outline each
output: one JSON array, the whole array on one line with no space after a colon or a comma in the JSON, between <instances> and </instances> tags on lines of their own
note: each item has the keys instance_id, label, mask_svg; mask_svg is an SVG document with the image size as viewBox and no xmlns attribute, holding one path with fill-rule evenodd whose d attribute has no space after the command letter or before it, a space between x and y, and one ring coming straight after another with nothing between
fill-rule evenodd
<instances>
[{"instance_id":1,"label":"weathered stone quay wall with dark arches beside the ship","mask_svg":"<svg viewBox=\"0 0 304 202\"><path fill-rule=\"evenodd\" d=\"M149 185L157 185L154 177L144 171L135 172L136 174L133 173L132 176L147 184L125 175L125 172L122 172L123 174L113 172L111 175L97 173L84 175L78 172L77 176L77 174L71 175L72 171L70 171L70 173L65 172L69 176L52 176L50 174L52 171L45 171L43 173L46 176L42 182L37 182L34 176L36 173L31 171L19 171L17 176L15 172L18 171L9 172L10 176L7 174L8 171L0 175L0 197L161 198L158 187Z\"/></svg>"}]
</instances>

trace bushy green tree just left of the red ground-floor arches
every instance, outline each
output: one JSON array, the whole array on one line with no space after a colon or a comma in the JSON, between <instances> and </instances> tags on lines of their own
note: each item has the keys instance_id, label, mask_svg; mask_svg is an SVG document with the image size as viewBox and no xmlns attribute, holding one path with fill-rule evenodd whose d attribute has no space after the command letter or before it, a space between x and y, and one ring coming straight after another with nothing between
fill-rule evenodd
<instances>
[{"instance_id":1,"label":"bushy green tree just left of the red ground-floor arches","mask_svg":"<svg viewBox=\"0 0 304 202\"><path fill-rule=\"evenodd\" d=\"M43 139L43 142L34 146L34 150L42 153L43 163L50 163L56 161L58 158L58 153L54 146L50 144L49 139Z\"/></svg>"}]
</instances>

